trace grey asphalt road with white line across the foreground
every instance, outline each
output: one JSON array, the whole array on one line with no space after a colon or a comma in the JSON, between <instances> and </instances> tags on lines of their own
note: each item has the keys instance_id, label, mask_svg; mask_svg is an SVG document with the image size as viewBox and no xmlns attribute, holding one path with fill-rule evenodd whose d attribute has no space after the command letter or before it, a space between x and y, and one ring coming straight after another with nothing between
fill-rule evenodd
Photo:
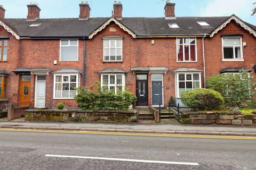
<instances>
[{"instance_id":1,"label":"grey asphalt road with white line across the foreground","mask_svg":"<svg viewBox=\"0 0 256 170\"><path fill-rule=\"evenodd\" d=\"M0 131L0 169L256 169L256 138Z\"/></svg>"}]
</instances>

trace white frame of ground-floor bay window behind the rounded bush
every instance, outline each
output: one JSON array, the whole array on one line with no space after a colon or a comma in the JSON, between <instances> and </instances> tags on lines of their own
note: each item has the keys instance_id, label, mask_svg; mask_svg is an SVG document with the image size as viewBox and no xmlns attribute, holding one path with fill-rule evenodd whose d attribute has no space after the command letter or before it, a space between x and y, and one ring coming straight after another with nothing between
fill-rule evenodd
<instances>
[{"instance_id":1,"label":"white frame of ground-floor bay window behind the rounded bush","mask_svg":"<svg viewBox=\"0 0 256 170\"><path fill-rule=\"evenodd\" d=\"M182 80L182 81L179 81L179 74L185 74L185 80ZM187 80L187 74L192 74L192 78L191 80ZM199 74L199 80L194 80L194 76L193 74ZM179 72L177 74L175 74L175 96L176 98L180 98L180 91L179 91L179 82L185 82L185 91L187 91L187 87L186 87L186 82L192 82L192 90L194 90L194 82L199 82L199 89L202 88L202 82L201 82L201 72L198 73L198 72Z\"/></svg>"}]
</instances>

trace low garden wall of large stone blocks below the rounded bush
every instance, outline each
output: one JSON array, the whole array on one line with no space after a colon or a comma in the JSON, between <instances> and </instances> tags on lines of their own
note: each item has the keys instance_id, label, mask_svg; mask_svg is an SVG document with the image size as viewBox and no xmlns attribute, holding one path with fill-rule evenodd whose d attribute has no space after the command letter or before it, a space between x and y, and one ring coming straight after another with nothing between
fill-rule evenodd
<instances>
[{"instance_id":1,"label":"low garden wall of large stone blocks below the rounded bush","mask_svg":"<svg viewBox=\"0 0 256 170\"><path fill-rule=\"evenodd\" d=\"M183 124L256 124L256 114L243 115L240 112L188 112L181 118Z\"/></svg>"}]
</instances>

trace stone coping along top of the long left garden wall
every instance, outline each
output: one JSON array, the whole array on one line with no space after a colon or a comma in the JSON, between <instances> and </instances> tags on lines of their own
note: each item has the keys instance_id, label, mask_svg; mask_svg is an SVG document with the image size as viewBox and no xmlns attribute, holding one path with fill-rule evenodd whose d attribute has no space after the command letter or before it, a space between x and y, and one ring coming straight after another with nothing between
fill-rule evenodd
<instances>
[{"instance_id":1,"label":"stone coping along top of the long left garden wall","mask_svg":"<svg viewBox=\"0 0 256 170\"><path fill-rule=\"evenodd\" d=\"M26 112L77 112L77 113L123 113L123 114L135 114L137 111L83 111L81 109L28 109Z\"/></svg>"}]
</instances>

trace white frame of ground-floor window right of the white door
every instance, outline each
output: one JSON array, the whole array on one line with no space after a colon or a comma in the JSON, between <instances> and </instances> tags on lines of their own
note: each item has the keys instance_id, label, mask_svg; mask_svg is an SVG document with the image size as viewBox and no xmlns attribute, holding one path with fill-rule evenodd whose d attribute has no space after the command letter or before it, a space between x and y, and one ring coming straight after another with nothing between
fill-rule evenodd
<instances>
[{"instance_id":1,"label":"white frame of ground-floor window right of the white door","mask_svg":"<svg viewBox=\"0 0 256 170\"><path fill-rule=\"evenodd\" d=\"M76 87L78 88L80 86L80 74L68 74L68 73L63 73L63 74L54 74L53 75L53 99L74 99L73 97L70 97L70 76L72 75L76 75ZM61 83L61 97L55 97L55 90L56 90L56 76L61 76L61 82L57 82L57 83ZM69 83L69 90L68 90L68 98L62 98L62 84L63 84L63 77L64 76L68 76L68 82ZM71 83L75 83L75 82L71 82Z\"/></svg>"}]
</instances>

